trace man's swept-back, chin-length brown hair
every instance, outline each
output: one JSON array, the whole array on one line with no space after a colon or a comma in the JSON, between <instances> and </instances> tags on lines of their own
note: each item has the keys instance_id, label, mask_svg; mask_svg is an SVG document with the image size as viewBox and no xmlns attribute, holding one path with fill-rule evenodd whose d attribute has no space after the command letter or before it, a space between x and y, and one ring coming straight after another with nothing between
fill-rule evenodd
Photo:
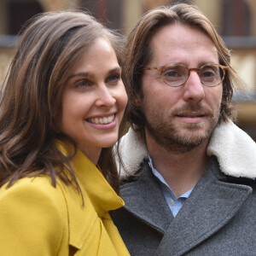
<instances>
[{"instance_id":1,"label":"man's swept-back, chin-length brown hair","mask_svg":"<svg viewBox=\"0 0 256 256\"><path fill-rule=\"evenodd\" d=\"M150 48L151 38L161 27L170 24L196 27L205 32L218 49L219 63L230 67L230 50L227 49L218 36L211 22L195 6L178 3L172 6L163 6L148 11L137 22L131 31L124 47L125 63L123 65L123 79L130 99L128 104L128 120L137 131L144 131L144 115L137 106L137 99L143 96L142 77L143 70L151 61L153 52ZM223 83L223 98L220 109L219 122L236 119L236 111L231 103L235 86L242 82L236 72L229 68Z\"/></svg>"}]
</instances>

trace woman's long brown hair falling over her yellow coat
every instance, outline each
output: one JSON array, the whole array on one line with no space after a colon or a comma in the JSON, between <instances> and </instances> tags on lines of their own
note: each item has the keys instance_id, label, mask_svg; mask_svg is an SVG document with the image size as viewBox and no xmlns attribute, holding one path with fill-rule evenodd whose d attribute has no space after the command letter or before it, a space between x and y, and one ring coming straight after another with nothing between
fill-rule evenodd
<instances>
[{"instance_id":1,"label":"woman's long brown hair falling over her yellow coat","mask_svg":"<svg viewBox=\"0 0 256 256\"><path fill-rule=\"evenodd\" d=\"M11 186L20 177L49 175L79 188L69 165L76 152L72 138L61 134L62 91L84 50L98 37L113 45L118 61L122 39L92 16L82 12L38 15L22 32L0 102L0 183ZM56 141L73 145L67 155ZM104 148L99 163L104 177L119 191L111 148Z\"/></svg>"}]
</instances>

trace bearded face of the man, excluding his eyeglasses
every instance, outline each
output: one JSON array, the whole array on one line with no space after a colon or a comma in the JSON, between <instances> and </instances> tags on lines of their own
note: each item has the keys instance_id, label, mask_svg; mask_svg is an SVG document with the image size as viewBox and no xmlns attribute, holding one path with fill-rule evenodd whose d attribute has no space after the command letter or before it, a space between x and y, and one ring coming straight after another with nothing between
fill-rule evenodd
<instances>
[{"instance_id":1,"label":"bearded face of the man, excluding his eyeglasses","mask_svg":"<svg viewBox=\"0 0 256 256\"><path fill-rule=\"evenodd\" d=\"M204 32L181 25L160 28L150 42L153 58L147 67L182 64L188 68L218 64L218 52ZM186 152L207 143L218 123L222 84L207 87L195 71L180 87L163 82L159 70L143 74L143 99L139 105L146 119L147 143Z\"/></svg>"}]
</instances>

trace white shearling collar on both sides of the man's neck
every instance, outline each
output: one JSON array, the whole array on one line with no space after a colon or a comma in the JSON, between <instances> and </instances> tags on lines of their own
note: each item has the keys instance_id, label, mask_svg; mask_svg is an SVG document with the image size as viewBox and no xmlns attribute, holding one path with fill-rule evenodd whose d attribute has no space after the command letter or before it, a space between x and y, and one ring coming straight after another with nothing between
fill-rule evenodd
<instances>
[{"instance_id":1,"label":"white shearling collar on both sides of the man's neck","mask_svg":"<svg viewBox=\"0 0 256 256\"><path fill-rule=\"evenodd\" d=\"M119 151L129 172L127 174L120 166L121 178L137 172L143 159L148 157L143 137L132 128L121 138ZM256 178L256 143L231 121L214 129L207 154L218 158L220 170L226 175Z\"/></svg>"}]
</instances>

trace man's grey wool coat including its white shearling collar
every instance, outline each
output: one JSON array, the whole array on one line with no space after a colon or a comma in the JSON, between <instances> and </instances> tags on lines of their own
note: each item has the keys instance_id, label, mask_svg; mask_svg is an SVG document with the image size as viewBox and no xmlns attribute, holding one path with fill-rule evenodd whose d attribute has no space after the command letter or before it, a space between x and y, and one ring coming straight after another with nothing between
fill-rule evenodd
<instances>
[{"instance_id":1,"label":"man's grey wool coat including its white shearling collar","mask_svg":"<svg viewBox=\"0 0 256 256\"><path fill-rule=\"evenodd\" d=\"M173 218L143 139L133 130L122 139L131 173L122 173L125 207L112 217L131 255L256 255L256 144L229 122L215 128L207 154L207 169Z\"/></svg>"}]
</instances>

